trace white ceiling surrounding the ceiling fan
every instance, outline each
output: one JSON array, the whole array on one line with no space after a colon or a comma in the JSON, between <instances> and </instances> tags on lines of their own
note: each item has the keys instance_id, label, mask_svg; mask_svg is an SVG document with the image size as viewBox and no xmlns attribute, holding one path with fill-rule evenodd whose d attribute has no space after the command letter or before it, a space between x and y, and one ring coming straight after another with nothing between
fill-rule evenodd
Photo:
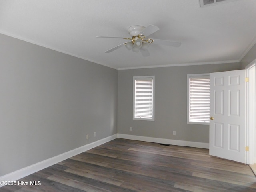
<instances>
[{"instance_id":1,"label":"white ceiling surrounding the ceiling fan","mask_svg":"<svg viewBox=\"0 0 256 192\"><path fill-rule=\"evenodd\" d=\"M143 57L126 42L132 25L158 26ZM0 0L0 33L116 69L240 62L256 42L256 0L200 8L199 0Z\"/></svg>"}]
</instances>

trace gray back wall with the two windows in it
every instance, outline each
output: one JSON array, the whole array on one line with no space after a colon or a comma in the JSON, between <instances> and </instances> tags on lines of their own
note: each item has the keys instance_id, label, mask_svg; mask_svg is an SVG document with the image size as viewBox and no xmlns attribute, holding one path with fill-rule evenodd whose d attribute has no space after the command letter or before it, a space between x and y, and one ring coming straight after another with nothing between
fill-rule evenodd
<instances>
[{"instance_id":1,"label":"gray back wall with the two windows in it","mask_svg":"<svg viewBox=\"0 0 256 192\"><path fill-rule=\"evenodd\" d=\"M187 74L239 69L233 63L119 70L118 133L208 143L209 126L187 124ZM155 121L132 120L133 76L147 75L155 76Z\"/></svg>"}]
</instances>

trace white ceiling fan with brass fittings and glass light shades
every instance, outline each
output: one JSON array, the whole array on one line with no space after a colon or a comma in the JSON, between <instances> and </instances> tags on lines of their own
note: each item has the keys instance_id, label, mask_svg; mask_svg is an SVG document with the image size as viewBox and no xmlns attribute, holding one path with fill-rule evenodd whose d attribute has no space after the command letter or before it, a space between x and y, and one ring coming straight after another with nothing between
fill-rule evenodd
<instances>
[{"instance_id":1,"label":"white ceiling fan with brass fittings and glass light shades","mask_svg":"<svg viewBox=\"0 0 256 192\"><path fill-rule=\"evenodd\" d=\"M154 25L148 25L146 28L144 26L135 25L135 26L130 26L128 28L128 33L130 34L131 38L109 37L109 36L96 36L96 37L121 38L121 39L131 40L131 41L122 43L118 46L115 46L109 50L106 50L105 53L110 53L118 48L121 48L122 46L125 46L128 50L132 50L133 52L141 52L143 56L150 56L150 53L148 51L149 44L162 44L162 45L168 45L173 47L179 47L181 45L180 42L146 38L147 36L153 34L158 30L159 28Z\"/></svg>"}]
</instances>

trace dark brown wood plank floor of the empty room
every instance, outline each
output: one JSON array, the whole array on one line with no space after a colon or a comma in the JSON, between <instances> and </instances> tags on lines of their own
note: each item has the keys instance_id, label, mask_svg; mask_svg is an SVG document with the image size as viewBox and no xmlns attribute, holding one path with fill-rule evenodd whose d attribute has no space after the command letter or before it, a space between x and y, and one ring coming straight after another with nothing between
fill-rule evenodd
<instances>
[{"instance_id":1,"label":"dark brown wood plank floor of the empty room","mask_svg":"<svg viewBox=\"0 0 256 192\"><path fill-rule=\"evenodd\" d=\"M19 181L1 192L255 192L246 164L207 149L115 139Z\"/></svg>"}]
</instances>

